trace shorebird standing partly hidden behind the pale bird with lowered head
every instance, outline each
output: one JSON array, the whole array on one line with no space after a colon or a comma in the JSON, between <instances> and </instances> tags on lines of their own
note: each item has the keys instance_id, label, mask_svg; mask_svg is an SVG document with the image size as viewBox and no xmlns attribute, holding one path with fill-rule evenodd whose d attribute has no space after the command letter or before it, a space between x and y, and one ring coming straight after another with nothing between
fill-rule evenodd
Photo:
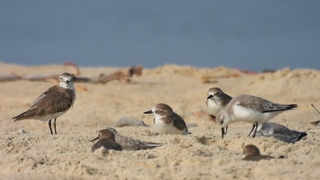
<instances>
[{"instance_id":1,"label":"shorebird standing partly hidden behind the pale bird with lowered head","mask_svg":"<svg viewBox=\"0 0 320 180\"><path fill-rule=\"evenodd\" d=\"M228 94L224 93L218 87L209 88L207 91L208 96L206 97L206 107L211 113L211 118L216 119L217 113L223 109L229 101L232 99ZM228 129L228 126L225 127L225 134Z\"/></svg>"}]
</instances>

